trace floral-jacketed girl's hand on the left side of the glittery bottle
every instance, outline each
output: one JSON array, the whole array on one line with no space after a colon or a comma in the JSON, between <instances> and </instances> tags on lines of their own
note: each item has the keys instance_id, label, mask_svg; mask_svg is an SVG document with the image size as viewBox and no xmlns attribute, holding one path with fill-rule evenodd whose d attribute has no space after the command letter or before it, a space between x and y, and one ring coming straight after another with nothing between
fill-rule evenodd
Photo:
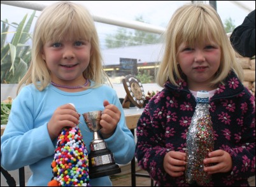
<instances>
[{"instance_id":1,"label":"floral-jacketed girl's hand on the left side of the glittery bottle","mask_svg":"<svg viewBox=\"0 0 256 187\"><path fill-rule=\"evenodd\" d=\"M186 154L179 151L169 151L164 156L164 170L172 177L180 177L184 174Z\"/></svg>"}]
</instances>

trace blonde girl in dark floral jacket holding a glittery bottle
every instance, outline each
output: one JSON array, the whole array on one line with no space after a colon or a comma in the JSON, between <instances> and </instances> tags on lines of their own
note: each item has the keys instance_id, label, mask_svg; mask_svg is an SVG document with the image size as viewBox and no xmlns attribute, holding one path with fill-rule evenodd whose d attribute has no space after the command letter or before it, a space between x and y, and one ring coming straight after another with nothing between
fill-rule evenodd
<instances>
[{"instance_id":1,"label":"blonde girl in dark floral jacket holding a glittery bottle","mask_svg":"<svg viewBox=\"0 0 256 187\"><path fill-rule=\"evenodd\" d=\"M215 148L204 163L209 186L248 186L255 176L255 97L217 12L207 4L181 6L166 29L156 81L164 87L138 121L136 158L157 186L196 186L185 181L186 134L196 93L210 92Z\"/></svg>"}]
</instances>

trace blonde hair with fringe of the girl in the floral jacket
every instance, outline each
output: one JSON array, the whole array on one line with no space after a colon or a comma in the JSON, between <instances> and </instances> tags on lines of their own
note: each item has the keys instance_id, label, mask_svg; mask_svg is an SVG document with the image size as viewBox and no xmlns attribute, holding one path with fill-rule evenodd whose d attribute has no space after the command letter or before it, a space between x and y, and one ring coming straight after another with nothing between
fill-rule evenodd
<instances>
[{"instance_id":1,"label":"blonde hair with fringe of the girl in the floral jacket","mask_svg":"<svg viewBox=\"0 0 256 187\"><path fill-rule=\"evenodd\" d=\"M187 4L178 8L169 21L164 36L164 55L156 76L156 82L160 87L164 87L167 80L173 85L177 85L177 80L182 80L177 55L178 46L183 42L188 46L194 46L205 41L215 41L220 46L220 67L211 85L223 83L231 70L243 80L243 69L236 58L236 52L227 37L222 20L210 5Z\"/></svg>"}]
</instances>

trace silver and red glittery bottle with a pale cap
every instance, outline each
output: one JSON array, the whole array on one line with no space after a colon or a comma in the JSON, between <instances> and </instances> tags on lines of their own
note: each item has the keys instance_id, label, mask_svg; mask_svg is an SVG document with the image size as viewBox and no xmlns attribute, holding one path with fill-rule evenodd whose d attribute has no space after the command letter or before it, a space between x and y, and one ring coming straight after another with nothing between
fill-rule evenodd
<instances>
[{"instance_id":1,"label":"silver and red glittery bottle with a pale cap","mask_svg":"<svg viewBox=\"0 0 256 187\"><path fill-rule=\"evenodd\" d=\"M187 183L204 186L211 181L211 175L204 172L203 160L214 148L214 131L209 112L209 92L197 92L196 109L187 132L186 169Z\"/></svg>"}]
</instances>

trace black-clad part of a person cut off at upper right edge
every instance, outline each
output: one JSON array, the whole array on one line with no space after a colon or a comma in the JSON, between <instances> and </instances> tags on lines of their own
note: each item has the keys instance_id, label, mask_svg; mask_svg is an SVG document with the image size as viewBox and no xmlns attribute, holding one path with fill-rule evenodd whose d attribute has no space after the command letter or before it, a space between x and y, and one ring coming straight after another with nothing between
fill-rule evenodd
<instances>
[{"instance_id":1,"label":"black-clad part of a person cut off at upper right edge","mask_svg":"<svg viewBox=\"0 0 256 187\"><path fill-rule=\"evenodd\" d=\"M255 10L245 17L243 24L234 29L230 40L236 52L243 57L255 55Z\"/></svg>"}]
</instances>

